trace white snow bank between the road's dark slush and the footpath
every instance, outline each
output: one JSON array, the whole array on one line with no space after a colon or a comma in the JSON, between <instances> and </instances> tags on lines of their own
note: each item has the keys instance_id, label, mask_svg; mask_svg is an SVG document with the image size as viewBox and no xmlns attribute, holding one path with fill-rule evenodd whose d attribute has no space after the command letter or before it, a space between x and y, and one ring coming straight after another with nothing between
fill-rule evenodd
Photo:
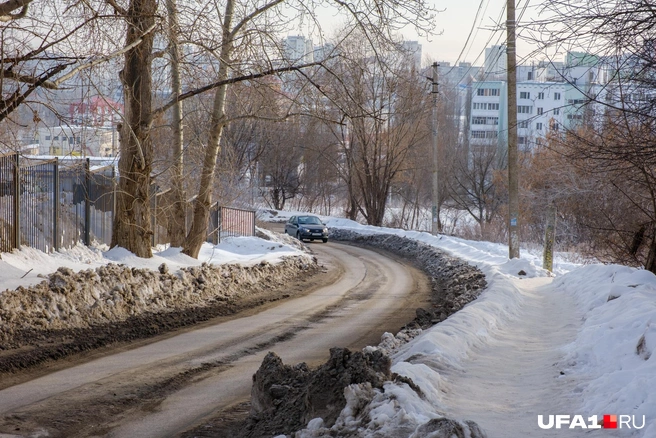
<instances>
[{"instance_id":1,"label":"white snow bank between the road's dark slush and the footpath","mask_svg":"<svg viewBox=\"0 0 656 438\"><path fill-rule=\"evenodd\" d=\"M467 359L472 348L484 344L496 329L510 318L517 317L522 303L522 292L516 286L517 278L545 276L548 272L527 260L509 261L499 253L490 253L472 242L460 239L364 227L341 219L329 220L328 225L333 228L348 225L349 231L364 235L391 232L406 238L416 237L414 240L460 255L477 265L485 274L487 288L476 301L433 328L425 330L409 343L400 346L393 354L392 371L411 379L413 385L389 382L383 391L373 392L369 388L352 385L345 390L347 405L334 426L319 427L317 421L312 423L311 428L308 427L295 435L297 438L327 437L335 434L357 437L406 437L412 434L424 436L422 433L428 424L443 421L448 414L448 407L442 396L441 371L447 368L462 368L461 363ZM340 229L343 229L341 227ZM440 243L445 245L439 245ZM467 254L468 257L463 257L462 254ZM390 338L390 334L383 336L383 350L387 351L390 346L399 345ZM415 385L420 391L416 390ZM370 402L364 404L365 399ZM483 436L474 423L458 424L462 433Z\"/></svg>"}]
</instances>

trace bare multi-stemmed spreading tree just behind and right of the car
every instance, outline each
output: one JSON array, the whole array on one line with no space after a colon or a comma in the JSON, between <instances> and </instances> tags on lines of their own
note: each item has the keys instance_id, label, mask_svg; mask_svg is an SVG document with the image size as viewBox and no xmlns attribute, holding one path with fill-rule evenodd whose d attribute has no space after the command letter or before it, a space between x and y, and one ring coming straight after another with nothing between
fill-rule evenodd
<instances>
[{"instance_id":1,"label":"bare multi-stemmed spreading tree just behind and right of the car","mask_svg":"<svg viewBox=\"0 0 656 438\"><path fill-rule=\"evenodd\" d=\"M382 225L394 181L414 148L427 141L425 80L408 68L398 51L374 52L357 44L343 47L343 59L328 95L340 125L331 125L341 145L336 163L348 189L347 215L361 214Z\"/></svg>"}]
</instances>

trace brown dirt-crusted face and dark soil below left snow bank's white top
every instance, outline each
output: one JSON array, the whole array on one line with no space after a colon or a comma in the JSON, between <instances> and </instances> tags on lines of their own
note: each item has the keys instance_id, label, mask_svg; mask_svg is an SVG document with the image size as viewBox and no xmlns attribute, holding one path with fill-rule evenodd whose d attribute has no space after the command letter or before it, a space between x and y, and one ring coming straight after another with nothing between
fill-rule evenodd
<instances>
[{"instance_id":1,"label":"brown dirt-crusted face and dark soil below left snow bank's white top","mask_svg":"<svg viewBox=\"0 0 656 438\"><path fill-rule=\"evenodd\" d=\"M0 294L0 388L106 349L302 295L323 271L310 256L278 264L159 272L109 264L60 268L38 285ZM108 347L111 347L108 349ZM95 357L95 356L94 356ZM60 361L60 362L58 362Z\"/></svg>"}]
</instances>

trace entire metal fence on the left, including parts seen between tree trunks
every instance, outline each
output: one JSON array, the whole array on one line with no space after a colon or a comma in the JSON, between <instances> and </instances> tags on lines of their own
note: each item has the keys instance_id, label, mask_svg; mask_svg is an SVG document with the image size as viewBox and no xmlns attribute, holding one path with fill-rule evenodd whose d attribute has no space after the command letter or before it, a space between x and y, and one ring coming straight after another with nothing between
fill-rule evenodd
<instances>
[{"instance_id":1,"label":"entire metal fence on the left, including parts seen between tree trunks","mask_svg":"<svg viewBox=\"0 0 656 438\"><path fill-rule=\"evenodd\" d=\"M37 160L0 156L0 252L21 245L44 252L98 241L111 243L115 211L114 166L90 169L89 160ZM151 189L153 245L168 243L171 191ZM191 213L193 198L188 202ZM191 215L187 215L188 231ZM208 242L255 235L255 211L210 210Z\"/></svg>"}]
</instances>

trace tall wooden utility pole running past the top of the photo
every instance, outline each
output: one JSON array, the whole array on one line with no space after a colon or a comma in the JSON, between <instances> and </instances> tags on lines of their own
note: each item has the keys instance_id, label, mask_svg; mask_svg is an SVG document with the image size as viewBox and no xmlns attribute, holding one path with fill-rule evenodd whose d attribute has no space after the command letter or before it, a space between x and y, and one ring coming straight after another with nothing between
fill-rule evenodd
<instances>
[{"instance_id":1,"label":"tall wooden utility pole running past the top of the photo","mask_svg":"<svg viewBox=\"0 0 656 438\"><path fill-rule=\"evenodd\" d=\"M517 50L515 0L507 0L508 62L508 257L519 258L519 183L517 175Z\"/></svg>"}]
</instances>

